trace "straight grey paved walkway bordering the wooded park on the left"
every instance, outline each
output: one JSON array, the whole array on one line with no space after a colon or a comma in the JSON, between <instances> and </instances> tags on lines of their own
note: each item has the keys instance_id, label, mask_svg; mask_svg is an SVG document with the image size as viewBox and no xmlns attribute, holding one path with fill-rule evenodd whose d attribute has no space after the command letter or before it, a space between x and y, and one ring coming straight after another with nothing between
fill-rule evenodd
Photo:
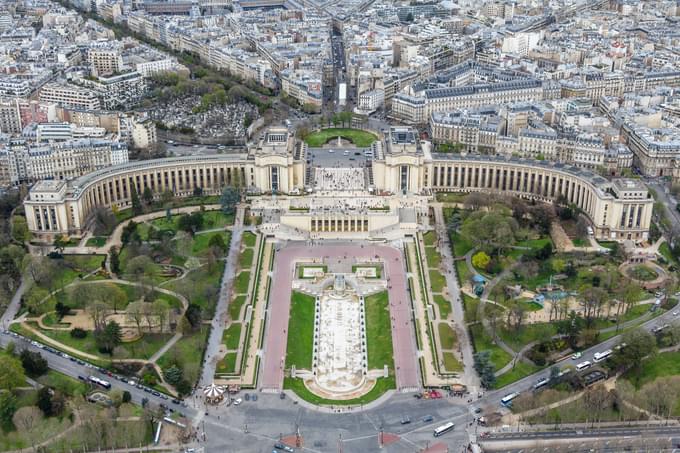
<instances>
[{"instance_id":1,"label":"straight grey paved walkway bordering the wooded park on the left","mask_svg":"<svg viewBox=\"0 0 680 453\"><path fill-rule=\"evenodd\" d=\"M208 343L205 349L203 370L201 372L201 378L198 382L199 387L210 385L215 377L215 369L217 368L218 357L220 355L220 346L222 344L222 332L227 325L227 311L229 307L229 301L231 300L231 290L234 283L236 269L238 269L244 216L245 208L243 206L239 206L236 210L234 227L231 232L229 254L227 255L227 260L224 264L220 296L215 307L215 316L213 316L212 319L212 328L210 329L210 335L208 337Z\"/></svg>"}]
</instances>

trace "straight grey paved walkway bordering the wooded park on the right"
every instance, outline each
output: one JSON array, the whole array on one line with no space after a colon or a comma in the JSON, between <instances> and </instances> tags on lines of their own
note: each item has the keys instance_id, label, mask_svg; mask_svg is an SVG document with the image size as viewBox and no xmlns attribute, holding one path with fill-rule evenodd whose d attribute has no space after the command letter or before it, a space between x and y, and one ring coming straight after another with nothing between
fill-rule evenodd
<instances>
[{"instance_id":1,"label":"straight grey paved walkway bordering the wooded park on the right","mask_svg":"<svg viewBox=\"0 0 680 453\"><path fill-rule=\"evenodd\" d=\"M460 287L458 286L458 279L455 271L456 266L453 261L453 254L451 252L451 243L449 241L448 230L446 222L444 222L444 213L442 211L441 203L432 203L434 211L435 230L439 238L441 247L442 265L447 272L444 272L446 278L446 286L451 295L451 308L453 312L453 320L455 323L455 330L458 334L458 344L461 348L461 356L463 359L463 372L459 373L458 377L468 386L473 393L479 388L479 376L475 372L475 362L473 359L472 345L470 344L470 337L467 326L465 325L465 315L463 312L463 299L461 296Z\"/></svg>"}]
</instances>

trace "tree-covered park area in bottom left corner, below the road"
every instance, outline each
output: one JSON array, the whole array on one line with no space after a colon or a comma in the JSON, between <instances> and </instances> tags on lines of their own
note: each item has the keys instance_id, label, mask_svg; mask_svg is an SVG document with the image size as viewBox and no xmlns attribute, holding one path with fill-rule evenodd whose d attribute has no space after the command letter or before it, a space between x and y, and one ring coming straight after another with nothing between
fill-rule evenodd
<instances>
[{"instance_id":1,"label":"tree-covered park area in bottom left corner, below the road","mask_svg":"<svg viewBox=\"0 0 680 453\"><path fill-rule=\"evenodd\" d=\"M89 385L49 370L40 354L13 346L0 350L0 368L0 451L119 449L152 440L153 428L128 392L110 391L106 404L85 404ZM28 378L41 387L28 385Z\"/></svg>"}]
</instances>

